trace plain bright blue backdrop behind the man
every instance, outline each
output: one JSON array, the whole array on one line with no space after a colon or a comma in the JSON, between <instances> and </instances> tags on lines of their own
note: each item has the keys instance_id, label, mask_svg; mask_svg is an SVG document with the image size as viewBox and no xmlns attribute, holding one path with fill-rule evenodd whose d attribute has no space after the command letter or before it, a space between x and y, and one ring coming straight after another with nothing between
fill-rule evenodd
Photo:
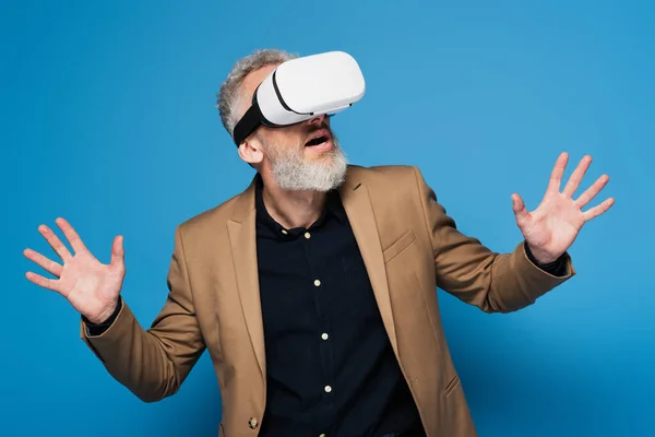
<instances>
[{"instance_id":1,"label":"plain bright blue backdrop behind the man","mask_svg":"<svg viewBox=\"0 0 655 437\"><path fill-rule=\"evenodd\" d=\"M2 2L0 435L215 435L207 355L144 404L79 339L79 315L24 277L62 215L109 261L147 326L175 226L253 173L215 93L260 47L353 54L367 95L333 119L352 162L418 165L460 228L495 250L521 235L561 151L616 205L571 248L579 274L536 305L485 315L439 292L480 436L646 436L655 416L655 8L650 1ZM529 3L529 5L528 5ZM595 202L595 203L597 203Z\"/></svg>"}]
</instances>

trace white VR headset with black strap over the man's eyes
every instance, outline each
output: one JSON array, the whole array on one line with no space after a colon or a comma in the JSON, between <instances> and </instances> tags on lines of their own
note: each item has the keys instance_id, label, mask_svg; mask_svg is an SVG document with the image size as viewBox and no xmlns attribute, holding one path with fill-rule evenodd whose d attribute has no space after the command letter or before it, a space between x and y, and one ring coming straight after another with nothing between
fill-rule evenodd
<instances>
[{"instance_id":1,"label":"white VR headset with black strap over the man's eyes","mask_svg":"<svg viewBox=\"0 0 655 437\"><path fill-rule=\"evenodd\" d=\"M252 106L234 130L241 144L260 125L279 128L320 115L332 116L359 101L366 85L355 59L329 51L288 60L263 80Z\"/></svg>"}]
</instances>

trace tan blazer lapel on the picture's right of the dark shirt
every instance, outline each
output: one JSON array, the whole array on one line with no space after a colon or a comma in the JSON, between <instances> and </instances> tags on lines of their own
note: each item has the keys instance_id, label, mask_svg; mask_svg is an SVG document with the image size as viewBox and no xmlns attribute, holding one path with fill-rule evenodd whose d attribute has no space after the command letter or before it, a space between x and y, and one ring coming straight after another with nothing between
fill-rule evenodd
<instances>
[{"instance_id":1,"label":"tan blazer lapel on the picture's right of the dark shirt","mask_svg":"<svg viewBox=\"0 0 655 437\"><path fill-rule=\"evenodd\" d=\"M348 172L350 173L352 170L353 168L350 167ZM348 215L348 221L353 227L355 239L359 246L359 251L364 258L384 328L386 329L391 345L397 355L396 331L378 224L376 223L368 189L361 180L358 180L356 175L357 173L354 172L353 175L348 176L346 184L340 189L340 194Z\"/></svg>"}]
</instances>

